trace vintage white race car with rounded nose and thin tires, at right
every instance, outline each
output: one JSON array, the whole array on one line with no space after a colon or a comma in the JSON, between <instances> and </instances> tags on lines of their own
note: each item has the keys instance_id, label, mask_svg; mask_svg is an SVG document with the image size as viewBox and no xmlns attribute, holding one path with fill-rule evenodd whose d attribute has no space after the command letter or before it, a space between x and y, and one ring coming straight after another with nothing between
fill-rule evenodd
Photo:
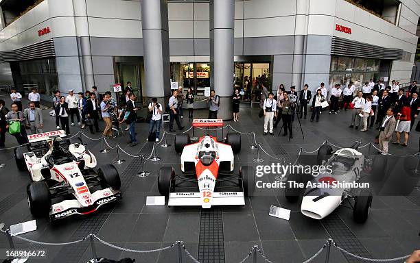
<instances>
[{"instance_id":1,"label":"vintage white race car with rounded nose and thin tires, at right","mask_svg":"<svg viewBox=\"0 0 420 263\"><path fill-rule=\"evenodd\" d=\"M358 182L364 168L364 156L360 153L356 143L351 148L339 149L333 152L329 145L322 145L318 150L317 162L324 166L330 166L330 173L312 175L291 174L285 185L285 198L290 202L299 201L303 194L301 212L305 216L314 219L323 219L338 206L345 205L353 209L353 218L357 223L364 223L368 218L372 193L362 189L358 195L352 193L352 188L347 187ZM382 165L382 164L381 164ZM374 164L371 167L377 173L380 166ZM303 183L307 187L290 186L290 182Z\"/></svg>"}]
</instances>

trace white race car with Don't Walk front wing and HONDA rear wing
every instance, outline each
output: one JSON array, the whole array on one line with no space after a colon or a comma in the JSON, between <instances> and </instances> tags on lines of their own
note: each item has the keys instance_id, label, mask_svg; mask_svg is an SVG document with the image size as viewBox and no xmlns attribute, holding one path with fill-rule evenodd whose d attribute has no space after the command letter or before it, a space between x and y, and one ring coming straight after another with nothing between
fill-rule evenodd
<instances>
[{"instance_id":1,"label":"white race car with Don't Walk front wing and HONDA rear wing","mask_svg":"<svg viewBox=\"0 0 420 263\"><path fill-rule=\"evenodd\" d=\"M50 221L73 214L90 214L121 199L115 166L97 166L95 156L80 143L71 143L62 130L27 136L27 147L14 150L16 165L28 171L27 201L34 216Z\"/></svg>"}]
</instances>

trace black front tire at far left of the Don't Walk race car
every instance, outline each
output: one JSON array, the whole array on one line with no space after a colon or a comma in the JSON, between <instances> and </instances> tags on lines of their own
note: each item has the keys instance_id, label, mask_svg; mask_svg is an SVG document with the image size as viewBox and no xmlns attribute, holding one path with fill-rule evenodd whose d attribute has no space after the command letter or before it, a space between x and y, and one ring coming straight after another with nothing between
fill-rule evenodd
<instances>
[{"instance_id":1,"label":"black front tire at far left of the Don't Walk race car","mask_svg":"<svg viewBox=\"0 0 420 263\"><path fill-rule=\"evenodd\" d=\"M48 215L51 208L51 197L45 181L34 181L27 186L27 203L34 216Z\"/></svg>"}]
</instances>

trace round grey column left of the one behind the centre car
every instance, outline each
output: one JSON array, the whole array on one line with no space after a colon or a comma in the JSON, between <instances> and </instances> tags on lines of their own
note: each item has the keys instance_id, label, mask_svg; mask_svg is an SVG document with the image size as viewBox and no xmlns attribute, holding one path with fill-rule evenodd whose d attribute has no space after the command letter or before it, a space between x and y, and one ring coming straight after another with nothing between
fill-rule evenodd
<instances>
[{"instance_id":1,"label":"round grey column left of the one behind the centre car","mask_svg":"<svg viewBox=\"0 0 420 263\"><path fill-rule=\"evenodd\" d=\"M145 87L143 96L163 103L170 96L169 29L167 0L141 1Z\"/></svg>"}]
</instances>

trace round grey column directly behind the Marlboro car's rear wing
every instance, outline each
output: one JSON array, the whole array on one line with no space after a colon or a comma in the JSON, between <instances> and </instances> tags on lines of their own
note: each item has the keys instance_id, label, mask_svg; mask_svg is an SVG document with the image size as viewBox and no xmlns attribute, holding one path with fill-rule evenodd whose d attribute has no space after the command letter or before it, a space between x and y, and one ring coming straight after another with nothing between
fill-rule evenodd
<instances>
[{"instance_id":1,"label":"round grey column directly behind the Marlboro car's rear wing","mask_svg":"<svg viewBox=\"0 0 420 263\"><path fill-rule=\"evenodd\" d=\"M232 118L234 0L210 0L210 86L220 96L218 118Z\"/></svg>"}]
</instances>

